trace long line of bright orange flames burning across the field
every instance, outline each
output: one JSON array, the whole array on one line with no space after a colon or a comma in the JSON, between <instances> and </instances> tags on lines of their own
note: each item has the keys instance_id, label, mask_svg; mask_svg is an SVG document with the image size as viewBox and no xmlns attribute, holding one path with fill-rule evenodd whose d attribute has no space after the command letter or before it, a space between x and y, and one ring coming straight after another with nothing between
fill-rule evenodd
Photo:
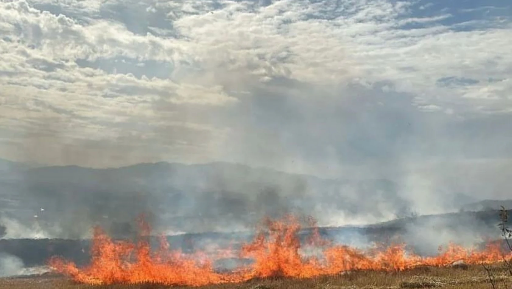
<instances>
[{"instance_id":1,"label":"long line of bright orange flames burning across the field","mask_svg":"<svg viewBox=\"0 0 512 289\"><path fill-rule=\"evenodd\" d=\"M293 216L265 219L253 241L239 252L225 249L219 250L216 256L205 252L185 254L170 250L163 237L159 249L152 252L147 238L150 228L142 220L140 224L142 230L136 242L112 240L100 228L95 228L91 262L84 268L58 257L50 260L50 266L55 272L87 284L151 282L200 286L276 276L307 278L355 270L403 271L420 265L446 266L459 260L467 264L495 263L512 257L512 253L502 250L500 242L488 242L483 250L467 250L452 243L446 249L440 248L435 257L412 254L403 244L362 251L332 246L317 230L313 230L309 242L303 245L298 238L300 222ZM301 249L307 246L321 248L319 256L301 254ZM216 260L234 256L251 258L253 263L232 272L215 271Z\"/></svg>"}]
</instances>

